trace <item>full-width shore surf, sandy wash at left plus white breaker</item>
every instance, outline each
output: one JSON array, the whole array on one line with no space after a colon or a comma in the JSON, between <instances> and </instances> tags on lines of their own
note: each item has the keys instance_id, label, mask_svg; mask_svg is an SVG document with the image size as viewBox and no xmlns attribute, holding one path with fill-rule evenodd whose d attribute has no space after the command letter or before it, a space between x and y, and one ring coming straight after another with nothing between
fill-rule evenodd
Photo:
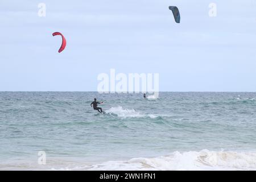
<instances>
[{"instance_id":1,"label":"full-width shore surf, sandy wash at left plus white breaker","mask_svg":"<svg viewBox=\"0 0 256 182\"><path fill-rule=\"evenodd\" d=\"M47 158L47 164L19 161L2 163L0 169L29 170L90 170L90 171L239 171L256 170L256 152L236 151L188 151L172 152L156 158L133 158L125 161L108 161L89 164L87 160Z\"/></svg>"}]
</instances>

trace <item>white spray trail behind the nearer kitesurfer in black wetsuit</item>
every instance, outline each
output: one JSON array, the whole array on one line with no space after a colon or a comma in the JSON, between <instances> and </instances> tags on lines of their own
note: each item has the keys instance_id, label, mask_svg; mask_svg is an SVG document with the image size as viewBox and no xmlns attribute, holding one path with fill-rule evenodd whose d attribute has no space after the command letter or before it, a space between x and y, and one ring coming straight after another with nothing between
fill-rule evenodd
<instances>
[{"instance_id":1,"label":"white spray trail behind the nearer kitesurfer in black wetsuit","mask_svg":"<svg viewBox=\"0 0 256 182\"><path fill-rule=\"evenodd\" d=\"M134 109L123 109L122 106L111 107L109 110L106 110L105 112L110 115L114 115L121 118L158 118L158 116L154 114L141 114L139 113L139 111L136 111Z\"/></svg>"}]
</instances>

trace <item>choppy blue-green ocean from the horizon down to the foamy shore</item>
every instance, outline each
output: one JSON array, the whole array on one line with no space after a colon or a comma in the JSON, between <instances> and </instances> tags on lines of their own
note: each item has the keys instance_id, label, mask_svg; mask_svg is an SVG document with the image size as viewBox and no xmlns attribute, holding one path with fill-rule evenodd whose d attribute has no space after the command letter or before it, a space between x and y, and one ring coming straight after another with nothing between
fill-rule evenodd
<instances>
[{"instance_id":1,"label":"choppy blue-green ocean from the horizon down to the foamy shore","mask_svg":"<svg viewBox=\"0 0 256 182\"><path fill-rule=\"evenodd\" d=\"M256 93L0 92L1 170L256 170L255 138Z\"/></svg>"}]
</instances>

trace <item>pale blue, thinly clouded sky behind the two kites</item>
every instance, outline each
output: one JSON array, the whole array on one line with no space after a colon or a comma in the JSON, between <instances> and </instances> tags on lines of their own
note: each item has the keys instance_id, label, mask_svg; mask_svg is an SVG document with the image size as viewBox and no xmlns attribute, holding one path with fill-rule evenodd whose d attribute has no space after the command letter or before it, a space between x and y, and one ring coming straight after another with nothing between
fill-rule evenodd
<instances>
[{"instance_id":1,"label":"pale blue, thinly clouded sky behind the two kites","mask_svg":"<svg viewBox=\"0 0 256 182\"><path fill-rule=\"evenodd\" d=\"M0 91L96 91L114 68L159 73L160 91L256 92L256 0L1 0L0 32Z\"/></svg>"}]
</instances>

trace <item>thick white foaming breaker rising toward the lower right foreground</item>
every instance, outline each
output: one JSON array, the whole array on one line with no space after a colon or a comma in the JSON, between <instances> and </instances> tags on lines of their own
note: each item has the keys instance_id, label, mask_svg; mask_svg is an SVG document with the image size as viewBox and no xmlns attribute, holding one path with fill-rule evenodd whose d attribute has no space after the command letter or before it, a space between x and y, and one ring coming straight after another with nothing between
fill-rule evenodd
<instances>
[{"instance_id":1,"label":"thick white foaming breaker rising toward the lower right foreground","mask_svg":"<svg viewBox=\"0 0 256 182\"><path fill-rule=\"evenodd\" d=\"M81 170L255 170L256 152L173 152L158 158L133 158L76 168Z\"/></svg>"}]
</instances>

